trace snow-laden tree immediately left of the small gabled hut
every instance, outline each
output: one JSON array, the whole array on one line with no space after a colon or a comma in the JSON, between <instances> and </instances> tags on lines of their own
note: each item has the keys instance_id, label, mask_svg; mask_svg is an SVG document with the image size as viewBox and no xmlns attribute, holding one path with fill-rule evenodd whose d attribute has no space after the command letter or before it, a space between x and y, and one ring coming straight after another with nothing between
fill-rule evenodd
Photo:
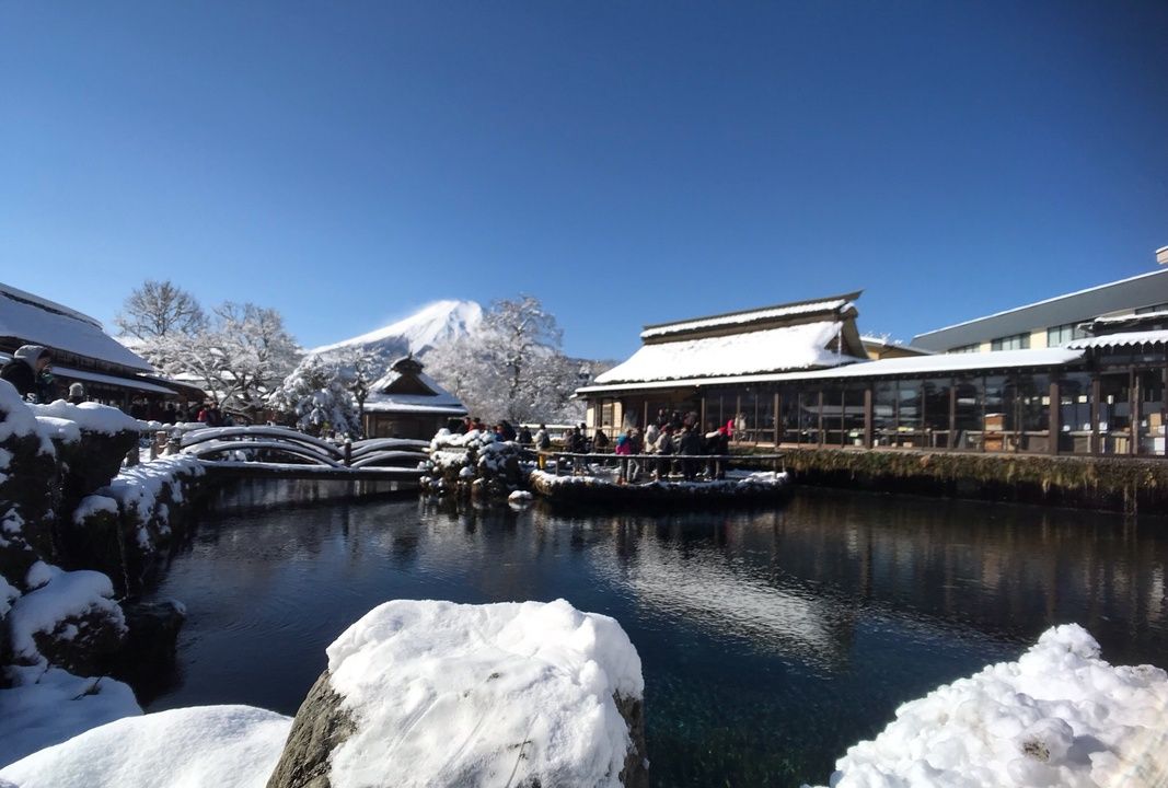
<instances>
[{"instance_id":1,"label":"snow-laden tree immediately left of the small gabled hut","mask_svg":"<svg viewBox=\"0 0 1168 788\"><path fill-rule=\"evenodd\" d=\"M308 434L361 434L361 420L342 370L320 356L301 361L267 402L273 410L292 416L297 428Z\"/></svg>"}]
</instances>

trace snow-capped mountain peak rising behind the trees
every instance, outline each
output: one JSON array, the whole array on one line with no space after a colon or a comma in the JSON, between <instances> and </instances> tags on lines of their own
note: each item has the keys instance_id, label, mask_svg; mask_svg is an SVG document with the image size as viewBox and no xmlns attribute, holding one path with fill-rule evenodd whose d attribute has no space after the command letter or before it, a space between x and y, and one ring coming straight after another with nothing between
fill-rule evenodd
<instances>
[{"instance_id":1,"label":"snow-capped mountain peak rising behind the trees","mask_svg":"<svg viewBox=\"0 0 1168 788\"><path fill-rule=\"evenodd\" d=\"M422 307L409 318L384 328L310 350L329 355L338 350L363 348L390 358L427 350L474 332L482 322L482 307L474 301L445 300Z\"/></svg>"}]
</instances>

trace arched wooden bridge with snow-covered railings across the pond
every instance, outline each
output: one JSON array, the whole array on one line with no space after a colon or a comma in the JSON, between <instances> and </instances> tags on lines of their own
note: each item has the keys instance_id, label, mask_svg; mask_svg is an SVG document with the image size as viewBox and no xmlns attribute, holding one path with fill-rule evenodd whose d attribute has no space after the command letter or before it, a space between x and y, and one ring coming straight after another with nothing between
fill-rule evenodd
<instances>
[{"instance_id":1,"label":"arched wooden bridge with snow-covered railings across the pond","mask_svg":"<svg viewBox=\"0 0 1168 788\"><path fill-rule=\"evenodd\" d=\"M192 430L178 444L209 473L227 476L411 482L422 477L418 466L430 458L425 440L370 438L338 445L273 426Z\"/></svg>"}]
</instances>

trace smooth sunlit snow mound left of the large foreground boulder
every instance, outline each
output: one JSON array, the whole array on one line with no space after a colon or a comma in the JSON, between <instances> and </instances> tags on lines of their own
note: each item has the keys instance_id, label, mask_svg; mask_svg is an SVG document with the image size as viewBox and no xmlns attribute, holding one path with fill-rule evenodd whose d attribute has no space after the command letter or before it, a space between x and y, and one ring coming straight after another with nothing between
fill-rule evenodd
<instances>
[{"instance_id":1,"label":"smooth sunlit snow mound left of the large foreground boulder","mask_svg":"<svg viewBox=\"0 0 1168 788\"><path fill-rule=\"evenodd\" d=\"M250 706L130 717L0 770L20 788L263 788L292 720Z\"/></svg>"}]
</instances>

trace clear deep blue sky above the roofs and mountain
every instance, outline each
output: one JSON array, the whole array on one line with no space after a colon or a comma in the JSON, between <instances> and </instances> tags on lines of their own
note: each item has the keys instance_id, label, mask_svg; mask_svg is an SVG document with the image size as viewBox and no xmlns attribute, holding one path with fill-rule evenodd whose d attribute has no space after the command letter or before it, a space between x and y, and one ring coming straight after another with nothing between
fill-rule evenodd
<instances>
[{"instance_id":1,"label":"clear deep blue sky above the roofs and mountain","mask_svg":"<svg viewBox=\"0 0 1168 788\"><path fill-rule=\"evenodd\" d=\"M0 5L0 280L320 344L520 292L569 353L864 291L913 334L1154 269L1168 4Z\"/></svg>"}]
</instances>

